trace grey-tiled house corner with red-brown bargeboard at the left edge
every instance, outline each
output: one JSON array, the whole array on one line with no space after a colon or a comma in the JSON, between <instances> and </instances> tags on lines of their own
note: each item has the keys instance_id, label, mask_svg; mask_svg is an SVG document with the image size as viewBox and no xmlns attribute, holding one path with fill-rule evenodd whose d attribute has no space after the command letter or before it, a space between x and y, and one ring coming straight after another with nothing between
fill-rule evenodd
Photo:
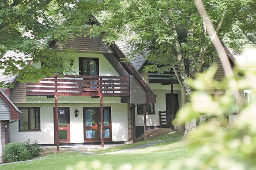
<instances>
[{"instance_id":1,"label":"grey-tiled house corner with red-brown bargeboard at the left edge","mask_svg":"<svg viewBox=\"0 0 256 170\"><path fill-rule=\"evenodd\" d=\"M19 109L12 103L6 94L0 90L0 163L2 163L2 152L6 143L10 142L9 126L10 120L19 119Z\"/></svg>"}]
</instances>

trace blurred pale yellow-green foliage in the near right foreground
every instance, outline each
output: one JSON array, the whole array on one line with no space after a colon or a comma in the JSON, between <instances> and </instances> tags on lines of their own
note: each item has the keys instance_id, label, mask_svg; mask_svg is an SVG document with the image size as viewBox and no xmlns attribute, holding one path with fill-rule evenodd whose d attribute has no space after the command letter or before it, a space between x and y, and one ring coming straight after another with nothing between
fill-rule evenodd
<instances>
[{"instance_id":1,"label":"blurred pale yellow-green foliage in the near right foreground","mask_svg":"<svg viewBox=\"0 0 256 170\"><path fill-rule=\"evenodd\" d=\"M207 72L199 74L196 80L189 81L190 86L195 89L191 102L179 110L175 121L185 123L194 118L200 119L200 116L206 116L207 119L199 123L197 129L185 139L190 141L190 147L197 148L196 153L190 158L173 161L166 169L256 169L256 65L254 67L251 61L250 67L236 67L233 70L235 76L230 80L223 80L222 83L213 82L216 68L211 67ZM234 91L243 94L243 90L251 90L249 101L233 95ZM239 114L236 116L235 125L222 126L226 117L237 111ZM142 163L136 166L121 165L119 169L163 168L161 163ZM68 169L111 170L112 166L95 161L79 163Z\"/></svg>"}]
</instances>

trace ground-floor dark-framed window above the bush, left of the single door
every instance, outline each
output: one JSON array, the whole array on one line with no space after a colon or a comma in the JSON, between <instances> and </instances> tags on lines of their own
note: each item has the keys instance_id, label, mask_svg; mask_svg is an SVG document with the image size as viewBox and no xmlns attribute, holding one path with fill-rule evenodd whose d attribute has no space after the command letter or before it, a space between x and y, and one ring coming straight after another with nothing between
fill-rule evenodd
<instances>
[{"instance_id":1,"label":"ground-floor dark-framed window above the bush, left of the single door","mask_svg":"<svg viewBox=\"0 0 256 170\"><path fill-rule=\"evenodd\" d=\"M40 108L19 108L19 130L40 130Z\"/></svg>"}]
</instances>

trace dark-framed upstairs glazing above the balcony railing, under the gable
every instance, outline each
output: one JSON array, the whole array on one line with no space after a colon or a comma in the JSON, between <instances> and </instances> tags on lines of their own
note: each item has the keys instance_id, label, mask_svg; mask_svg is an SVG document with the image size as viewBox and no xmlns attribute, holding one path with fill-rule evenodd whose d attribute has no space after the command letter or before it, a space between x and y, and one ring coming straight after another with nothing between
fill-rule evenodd
<instances>
[{"instance_id":1,"label":"dark-framed upstairs glazing above the balcony railing, under the gable","mask_svg":"<svg viewBox=\"0 0 256 170\"><path fill-rule=\"evenodd\" d=\"M79 74L87 76L99 75L98 58L79 58Z\"/></svg>"}]
</instances>

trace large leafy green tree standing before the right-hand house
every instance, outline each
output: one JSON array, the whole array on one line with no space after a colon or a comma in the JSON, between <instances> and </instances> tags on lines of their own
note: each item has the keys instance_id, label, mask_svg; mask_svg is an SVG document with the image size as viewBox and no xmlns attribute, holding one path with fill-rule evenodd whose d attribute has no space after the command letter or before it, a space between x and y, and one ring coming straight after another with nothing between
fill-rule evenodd
<instances>
[{"instance_id":1,"label":"large leafy green tree standing before the right-hand house","mask_svg":"<svg viewBox=\"0 0 256 170\"><path fill-rule=\"evenodd\" d=\"M206 25L188 0L105 0L101 1L102 26L94 25L92 35L102 36L106 43L126 40L134 47L132 54L144 54L148 61L146 71L170 70L177 65L186 101L192 89L187 78L195 78L217 56ZM205 7L222 37L232 31L232 25L244 16L252 5L250 0L207 0ZM247 13L246 13L247 14ZM189 123L187 123L189 125ZM190 124L191 125L191 124ZM188 130L196 126L192 121Z\"/></svg>"}]
</instances>

